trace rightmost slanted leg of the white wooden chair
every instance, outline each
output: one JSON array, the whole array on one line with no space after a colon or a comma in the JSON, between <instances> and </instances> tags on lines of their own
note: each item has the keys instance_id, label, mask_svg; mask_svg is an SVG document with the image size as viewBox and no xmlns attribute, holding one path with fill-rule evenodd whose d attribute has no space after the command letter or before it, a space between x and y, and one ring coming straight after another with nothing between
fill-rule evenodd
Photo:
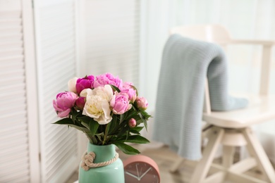
<instances>
[{"instance_id":1,"label":"rightmost slanted leg of the white wooden chair","mask_svg":"<svg viewBox=\"0 0 275 183\"><path fill-rule=\"evenodd\" d=\"M269 182L275 182L274 168L272 167L269 158L264 152L264 149L262 148L259 140L250 128L245 128L243 130L243 134L247 140L247 150L249 151L250 155L256 158L259 168L262 169Z\"/></svg>"}]
</instances>

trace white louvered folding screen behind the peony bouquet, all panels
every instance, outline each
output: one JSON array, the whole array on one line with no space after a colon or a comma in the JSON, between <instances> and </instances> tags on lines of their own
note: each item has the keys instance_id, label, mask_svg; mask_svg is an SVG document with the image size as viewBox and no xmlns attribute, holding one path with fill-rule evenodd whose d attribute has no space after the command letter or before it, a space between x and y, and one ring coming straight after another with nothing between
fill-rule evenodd
<instances>
[{"instance_id":1,"label":"white louvered folding screen behind the peony bouquet, all panels","mask_svg":"<svg viewBox=\"0 0 275 183\"><path fill-rule=\"evenodd\" d=\"M76 2L85 2L81 12ZM51 124L58 120L52 100L67 89L76 65L78 77L111 72L138 87L139 17L138 0L0 0L0 182L71 176L80 139L74 129Z\"/></svg>"}]
</instances>

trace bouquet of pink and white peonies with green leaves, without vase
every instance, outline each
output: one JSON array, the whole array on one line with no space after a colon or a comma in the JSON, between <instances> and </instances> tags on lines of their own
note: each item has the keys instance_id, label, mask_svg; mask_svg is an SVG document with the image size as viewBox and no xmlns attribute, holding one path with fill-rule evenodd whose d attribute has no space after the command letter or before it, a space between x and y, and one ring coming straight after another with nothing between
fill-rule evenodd
<instances>
[{"instance_id":1,"label":"bouquet of pink and white peonies with green leaves, without vase","mask_svg":"<svg viewBox=\"0 0 275 183\"><path fill-rule=\"evenodd\" d=\"M110 73L69 80L69 92L61 92L53 101L62 118L54 124L68 125L84 132L91 144L115 144L127 154L140 153L126 142L149 143L140 135L151 116L148 103L138 96L130 82L122 82ZM143 124L140 126L140 124Z\"/></svg>"}]
</instances>

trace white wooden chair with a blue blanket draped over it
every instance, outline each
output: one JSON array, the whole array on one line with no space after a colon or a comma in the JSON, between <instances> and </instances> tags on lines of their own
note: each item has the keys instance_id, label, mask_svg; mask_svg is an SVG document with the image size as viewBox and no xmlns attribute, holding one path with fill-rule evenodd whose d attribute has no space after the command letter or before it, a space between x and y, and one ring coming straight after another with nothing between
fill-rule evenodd
<instances>
[{"instance_id":1,"label":"white wooden chair with a blue blanket draped over it","mask_svg":"<svg viewBox=\"0 0 275 183\"><path fill-rule=\"evenodd\" d=\"M267 154L264 152L251 126L275 119L275 96L269 95L269 75L271 68L271 46L275 42L259 40L236 40L221 25L195 25L174 27L171 34L182 34L185 37L200 39L220 44L224 48L228 44L262 45L262 68L260 89L257 96L250 96L247 108L235 111L213 112L210 108L208 87L205 88L204 113L202 120L207 122L203 137L208 138L207 146L202 152L202 159L196 165L190 182L275 182L275 172ZM214 165L215 153L219 144L223 145L222 164ZM246 146L250 157L233 163L233 153L237 146ZM171 168L178 170L182 161ZM245 174L251 168L257 168L264 179L257 179ZM209 173L211 172L211 174Z\"/></svg>"}]
</instances>

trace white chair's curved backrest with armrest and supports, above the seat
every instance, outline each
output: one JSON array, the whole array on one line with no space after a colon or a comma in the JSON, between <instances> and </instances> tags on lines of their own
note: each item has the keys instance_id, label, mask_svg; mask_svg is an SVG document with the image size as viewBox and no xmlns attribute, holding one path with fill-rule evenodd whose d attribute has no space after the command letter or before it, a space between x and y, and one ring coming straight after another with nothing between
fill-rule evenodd
<instances>
[{"instance_id":1,"label":"white chair's curved backrest with armrest and supports, above the seat","mask_svg":"<svg viewBox=\"0 0 275 183\"><path fill-rule=\"evenodd\" d=\"M231 39L229 32L222 25L188 25L173 27L170 34L181 34L184 37L198 39L204 42L212 42L219 44L226 51L228 44L256 44L262 46L262 65L259 95L269 95L269 80L271 68L271 49L275 45L274 41L267 40L246 40L246 39ZM204 97L204 113L211 113L208 85L206 82L205 97Z\"/></svg>"}]
</instances>

